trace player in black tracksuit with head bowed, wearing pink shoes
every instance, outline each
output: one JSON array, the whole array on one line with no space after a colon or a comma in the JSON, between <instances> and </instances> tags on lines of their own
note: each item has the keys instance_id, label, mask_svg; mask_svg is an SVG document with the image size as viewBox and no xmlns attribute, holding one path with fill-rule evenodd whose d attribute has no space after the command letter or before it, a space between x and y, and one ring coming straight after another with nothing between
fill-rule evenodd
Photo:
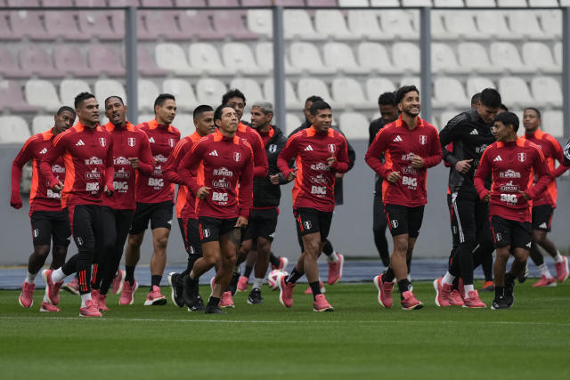
<instances>
[{"instance_id":1,"label":"player in black tracksuit with head bowed, wearing pink shoes","mask_svg":"<svg viewBox=\"0 0 570 380\"><path fill-rule=\"evenodd\" d=\"M436 304L450 305L452 282L462 279L464 294L463 306L483 308L485 303L479 298L473 287L473 251L478 245L481 249L478 264L493 255L493 237L489 232L488 206L478 198L473 176L485 149L495 141L493 118L501 106L501 94L493 88L481 92L476 109L461 112L453 117L439 133L445 162L452 168L449 174L448 189L452 198L452 219L457 228L457 247L453 250L448 271L443 279L436 279ZM452 143L452 151L445 147ZM488 188L491 182L487 179ZM483 259L485 258L485 260ZM452 304L456 304L453 302Z\"/></svg>"}]
</instances>

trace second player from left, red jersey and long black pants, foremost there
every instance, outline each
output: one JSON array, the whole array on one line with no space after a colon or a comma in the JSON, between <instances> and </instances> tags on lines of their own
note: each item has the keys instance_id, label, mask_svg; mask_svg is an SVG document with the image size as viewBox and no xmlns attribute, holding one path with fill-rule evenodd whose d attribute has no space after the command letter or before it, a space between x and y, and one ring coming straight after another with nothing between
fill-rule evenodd
<instances>
[{"instance_id":1,"label":"second player from left, red jersey and long black pants, foremost there","mask_svg":"<svg viewBox=\"0 0 570 380\"><path fill-rule=\"evenodd\" d=\"M81 294L80 317L101 317L98 304L91 298L91 265L95 243L107 239L101 217L102 194L113 193L113 139L99 126L99 103L92 93L79 93L75 98L79 122L53 140L40 163L40 170L53 191L61 191L61 207L69 215L69 223L77 255L56 270L42 271L45 293L53 304L59 303L58 290L63 279L77 272ZM52 172L52 165L63 157L65 184ZM103 244L105 247L105 244Z\"/></svg>"}]
</instances>

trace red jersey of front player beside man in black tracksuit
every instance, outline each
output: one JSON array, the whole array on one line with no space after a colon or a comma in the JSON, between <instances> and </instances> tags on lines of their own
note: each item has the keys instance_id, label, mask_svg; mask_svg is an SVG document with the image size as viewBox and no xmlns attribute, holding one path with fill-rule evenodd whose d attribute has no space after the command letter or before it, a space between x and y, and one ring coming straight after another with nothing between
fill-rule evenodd
<instances>
[{"instance_id":1,"label":"red jersey of front player beside man in black tracksuit","mask_svg":"<svg viewBox=\"0 0 570 380\"><path fill-rule=\"evenodd\" d=\"M481 156L475 174L475 188L479 198L489 192L485 178L493 174L489 215L518 222L531 222L533 201L527 201L524 191L531 199L539 198L552 180L542 151L532 142L517 138L516 141L496 141L489 145ZM533 186L533 174L538 181Z\"/></svg>"}]
</instances>

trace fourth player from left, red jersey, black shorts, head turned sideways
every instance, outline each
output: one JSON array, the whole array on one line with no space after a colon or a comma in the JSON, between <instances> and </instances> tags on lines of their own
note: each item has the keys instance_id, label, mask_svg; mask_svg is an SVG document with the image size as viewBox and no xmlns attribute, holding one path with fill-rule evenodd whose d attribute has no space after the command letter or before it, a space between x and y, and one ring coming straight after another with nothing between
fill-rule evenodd
<instances>
[{"instance_id":1,"label":"fourth player from left, red jersey, black shorts, head turned sideways","mask_svg":"<svg viewBox=\"0 0 570 380\"><path fill-rule=\"evenodd\" d=\"M167 303L167 297L160 293L160 280L167 264L167 242L172 227L175 185L163 177L162 167L180 140L180 131L171 125L176 116L175 97L169 93L159 94L154 101L154 115L151 121L137 125L149 138L155 166L151 175L141 173L136 180L136 210L128 233L125 285L119 298L122 305L134 302L134 292L138 287L134 279L134 267L141 258L142 239L144 231L149 227L149 221L154 249L151 256L151 291L146 296L144 305Z\"/></svg>"}]
</instances>

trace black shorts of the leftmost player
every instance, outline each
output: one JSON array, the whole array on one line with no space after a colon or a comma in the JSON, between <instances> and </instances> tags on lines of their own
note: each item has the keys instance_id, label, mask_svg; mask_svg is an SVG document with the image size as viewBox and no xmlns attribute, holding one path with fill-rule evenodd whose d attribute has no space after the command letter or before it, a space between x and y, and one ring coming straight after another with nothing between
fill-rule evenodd
<instances>
[{"instance_id":1,"label":"black shorts of the leftmost player","mask_svg":"<svg viewBox=\"0 0 570 380\"><path fill-rule=\"evenodd\" d=\"M64 211L35 211L29 217L32 226L34 247L68 247L71 242L69 216Z\"/></svg>"}]
</instances>

